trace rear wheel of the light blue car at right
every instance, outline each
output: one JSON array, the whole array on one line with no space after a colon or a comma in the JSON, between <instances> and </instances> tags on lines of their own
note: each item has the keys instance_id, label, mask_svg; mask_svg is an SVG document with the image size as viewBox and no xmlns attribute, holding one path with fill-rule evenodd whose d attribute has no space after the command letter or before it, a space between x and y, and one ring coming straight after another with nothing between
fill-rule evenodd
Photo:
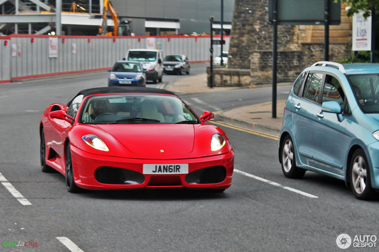
<instances>
[{"instance_id":1,"label":"rear wheel of the light blue car at right","mask_svg":"<svg viewBox=\"0 0 379 252\"><path fill-rule=\"evenodd\" d=\"M290 179L299 179L303 177L306 170L296 167L295 152L290 135L287 135L284 138L281 153L282 171L284 176Z\"/></svg>"}]
</instances>

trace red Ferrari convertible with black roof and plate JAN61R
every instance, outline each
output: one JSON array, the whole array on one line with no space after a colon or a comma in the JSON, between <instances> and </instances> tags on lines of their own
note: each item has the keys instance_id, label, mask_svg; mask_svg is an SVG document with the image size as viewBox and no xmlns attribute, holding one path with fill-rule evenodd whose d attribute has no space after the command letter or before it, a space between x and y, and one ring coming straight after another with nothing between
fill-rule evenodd
<instances>
[{"instance_id":1,"label":"red Ferrari convertible with black roof and plate JAN61R","mask_svg":"<svg viewBox=\"0 0 379 252\"><path fill-rule=\"evenodd\" d=\"M204 124L177 95L145 87L79 92L44 110L39 132L43 172L85 189L188 187L222 192L232 185L234 152L222 129Z\"/></svg>"}]
</instances>

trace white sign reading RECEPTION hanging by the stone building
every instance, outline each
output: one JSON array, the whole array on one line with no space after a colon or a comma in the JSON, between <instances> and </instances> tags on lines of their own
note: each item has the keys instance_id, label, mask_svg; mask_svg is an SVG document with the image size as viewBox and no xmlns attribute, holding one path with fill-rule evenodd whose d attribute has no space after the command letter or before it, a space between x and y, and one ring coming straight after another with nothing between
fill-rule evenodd
<instances>
[{"instance_id":1,"label":"white sign reading RECEPTION hanging by the stone building","mask_svg":"<svg viewBox=\"0 0 379 252\"><path fill-rule=\"evenodd\" d=\"M371 16L365 19L363 11L353 16L352 50L371 51Z\"/></svg>"}]
</instances>

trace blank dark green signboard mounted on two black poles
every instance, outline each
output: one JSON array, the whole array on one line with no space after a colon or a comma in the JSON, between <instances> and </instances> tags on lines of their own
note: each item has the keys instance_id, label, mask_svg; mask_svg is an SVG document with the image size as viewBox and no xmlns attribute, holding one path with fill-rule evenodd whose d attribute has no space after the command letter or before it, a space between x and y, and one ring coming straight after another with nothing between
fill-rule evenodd
<instances>
[{"instance_id":1,"label":"blank dark green signboard mounted on two black poles","mask_svg":"<svg viewBox=\"0 0 379 252\"><path fill-rule=\"evenodd\" d=\"M341 23L341 2L334 0L276 0L278 25L324 25L329 4L329 25ZM268 19L273 21L274 0L268 2Z\"/></svg>"}]
</instances>

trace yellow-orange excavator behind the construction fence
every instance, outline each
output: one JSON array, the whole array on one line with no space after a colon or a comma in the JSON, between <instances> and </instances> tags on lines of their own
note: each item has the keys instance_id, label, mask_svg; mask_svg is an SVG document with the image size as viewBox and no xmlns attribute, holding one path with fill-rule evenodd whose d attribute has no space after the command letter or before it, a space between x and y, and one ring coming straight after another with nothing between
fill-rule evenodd
<instances>
[{"instance_id":1,"label":"yellow-orange excavator behind the construction fence","mask_svg":"<svg viewBox=\"0 0 379 252\"><path fill-rule=\"evenodd\" d=\"M106 25L106 14L109 11L109 13L112 16L113 19L113 32L109 31L106 32L105 25ZM128 31L128 22L120 20L119 16L117 14L116 9L113 7L111 1L104 0L104 8L103 8L103 22L102 25L99 26L99 35L105 35L105 36L128 36L130 35Z\"/></svg>"}]
</instances>

